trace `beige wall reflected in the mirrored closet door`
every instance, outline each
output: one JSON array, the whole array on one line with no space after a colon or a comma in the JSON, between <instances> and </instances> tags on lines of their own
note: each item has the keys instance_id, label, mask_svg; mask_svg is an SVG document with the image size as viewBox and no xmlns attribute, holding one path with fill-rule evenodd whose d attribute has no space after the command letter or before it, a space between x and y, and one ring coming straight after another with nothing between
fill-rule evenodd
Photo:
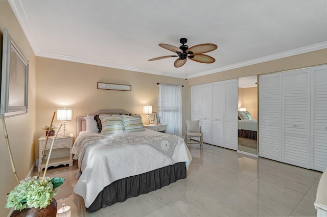
<instances>
[{"instance_id":1,"label":"beige wall reflected in the mirrored closet door","mask_svg":"<svg viewBox=\"0 0 327 217\"><path fill-rule=\"evenodd\" d=\"M256 116L258 113L258 94L256 93L256 90L256 87L239 88L239 106L245 107L253 119L257 119Z\"/></svg>"}]
</instances>

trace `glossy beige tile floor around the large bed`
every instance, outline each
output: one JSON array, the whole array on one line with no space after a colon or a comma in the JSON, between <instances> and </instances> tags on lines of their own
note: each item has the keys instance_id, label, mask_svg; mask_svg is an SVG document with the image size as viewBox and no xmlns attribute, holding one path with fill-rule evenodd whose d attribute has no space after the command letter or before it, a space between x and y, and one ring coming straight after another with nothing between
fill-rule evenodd
<instances>
[{"instance_id":1,"label":"glossy beige tile floor around the large bed","mask_svg":"<svg viewBox=\"0 0 327 217\"><path fill-rule=\"evenodd\" d=\"M74 194L77 164L48 170L63 177L55 196L72 207L72 216L316 216L320 172L204 145L190 148L188 176L146 195L86 212Z\"/></svg>"}]
</instances>

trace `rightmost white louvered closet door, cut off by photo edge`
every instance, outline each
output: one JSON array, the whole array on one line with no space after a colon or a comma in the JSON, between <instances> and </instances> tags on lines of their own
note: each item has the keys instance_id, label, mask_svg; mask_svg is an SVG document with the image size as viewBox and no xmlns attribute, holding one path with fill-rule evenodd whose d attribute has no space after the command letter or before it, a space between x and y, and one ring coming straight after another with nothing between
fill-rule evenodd
<instances>
[{"instance_id":1,"label":"rightmost white louvered closet door, cut off by photo edge","mask_svg":"<svg viewBox=\"0 0 327 217\"><path fill-rule=\"evenodd\" d=\"M311 68L311 165L327 168L327 66Z\"/></svg>"}]
</instances>

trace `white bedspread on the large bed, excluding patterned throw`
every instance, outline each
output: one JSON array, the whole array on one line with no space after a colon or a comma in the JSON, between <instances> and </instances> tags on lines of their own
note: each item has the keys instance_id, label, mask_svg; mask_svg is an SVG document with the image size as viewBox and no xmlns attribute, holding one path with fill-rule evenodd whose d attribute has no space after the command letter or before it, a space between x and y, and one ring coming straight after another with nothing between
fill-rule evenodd
<instances>
[{"instance_id":1,"label":"white bedspread on the large bed, excluding patterned throw","mask_svg":"<svg viewBox=\"0 0 327 217\"><path fill-rule=\"evenodd\" d=\"M98 137L104 139L112 137L112 135L101 135L95 132L81 133L72 149L72 154L75 154L74 159L81 156L79 153L81 150L78 148L79 141L82 140L82 137L88 137L89 135L98 135ZM135 135L167 134L146 129L145 131L123 132L115 135L135 137ZM80 162L81 159L78 160L82 175L74 187L74 192L82 196L85 206L89 207L103 188L116 180L150 172L173 165L176 162L185 162L186 168L188 168L192 156L184 140L178 137L176 146L170 156L146 143L139 142L136 145L135 143L126 143L125 140L121 144L114 145L89 145L83 155L82 162Z\"/></svg>"}]
</instances>

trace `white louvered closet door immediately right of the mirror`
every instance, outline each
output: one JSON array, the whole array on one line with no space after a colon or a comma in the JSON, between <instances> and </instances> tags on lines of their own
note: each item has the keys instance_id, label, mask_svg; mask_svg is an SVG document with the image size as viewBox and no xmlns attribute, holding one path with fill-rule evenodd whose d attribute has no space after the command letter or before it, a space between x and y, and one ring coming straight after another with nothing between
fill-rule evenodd
<instances>
[{"instance_id":1,"label":"white louvered closet door immediately right of the mirror","mask_svg":"<svg viewBox=\"0 0 327 217\"><path fill-rule=\"evenodd\" d=\"M260 75L259 156L282 160L281 73Z\"/></svg>"}]
</instances>

